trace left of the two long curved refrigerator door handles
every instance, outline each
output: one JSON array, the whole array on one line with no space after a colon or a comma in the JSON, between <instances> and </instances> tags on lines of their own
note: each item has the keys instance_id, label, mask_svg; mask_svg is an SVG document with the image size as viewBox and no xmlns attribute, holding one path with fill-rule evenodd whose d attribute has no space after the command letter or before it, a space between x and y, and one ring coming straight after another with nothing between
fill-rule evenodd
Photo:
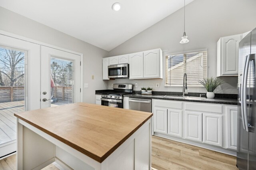
<instances>
[{"instance_id":1,"label":"left of the two long curved refrigerator door handles","mask_svg":"<svg viewBox=\"0 0 256 170\"><path fill-rule=\"evenodd\" d=\"M244 74L245 74L245 67L246 67L246 62L247 62L247 59L249 59L249 57L246 55L245 56L245 59L244 59L244 70L242 72L242 81L241 81L241 115L242 115L242 124L243 124L243 128L246 130L246 127L245 126L245 121L244 121ZM246 95L245 95L245 99L246 99ZM247 127L248 128L248 127Z\"/></svg>"}]
</instances>

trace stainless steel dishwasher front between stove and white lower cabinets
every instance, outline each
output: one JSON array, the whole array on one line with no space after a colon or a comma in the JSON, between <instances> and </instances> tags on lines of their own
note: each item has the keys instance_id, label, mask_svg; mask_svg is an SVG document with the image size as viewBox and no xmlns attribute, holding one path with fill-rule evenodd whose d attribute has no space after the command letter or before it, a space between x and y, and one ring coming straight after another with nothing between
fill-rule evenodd
<instances>
[{"instance_id":1,"label":"stainless steel dishwasher front between stove and white lower cabinets","mask_svg":"<svg viewBox=\"0 0 256 170\"><path fill-rule=\"evenodd\" d=\"M129 109L151 113L151 99L129 97Z\"/></svg>"}]
</instances>

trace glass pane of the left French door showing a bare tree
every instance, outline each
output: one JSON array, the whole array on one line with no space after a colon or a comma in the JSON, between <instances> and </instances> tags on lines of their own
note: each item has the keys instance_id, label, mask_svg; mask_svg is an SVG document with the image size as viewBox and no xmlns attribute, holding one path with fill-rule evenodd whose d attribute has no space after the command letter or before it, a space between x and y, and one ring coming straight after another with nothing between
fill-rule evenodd
<instances>
[{"instance_id":1,"label":"glass pane of the left French door showing a bare tree","mask_svg":"<svg viewBox=\"0 0 256 170\"><path fill-rule=\"evenodd\" d=\"M16 140L14 113L25 110L25 58L26 51L0 46L0 147Z\"/></svg>"}]
</instances>

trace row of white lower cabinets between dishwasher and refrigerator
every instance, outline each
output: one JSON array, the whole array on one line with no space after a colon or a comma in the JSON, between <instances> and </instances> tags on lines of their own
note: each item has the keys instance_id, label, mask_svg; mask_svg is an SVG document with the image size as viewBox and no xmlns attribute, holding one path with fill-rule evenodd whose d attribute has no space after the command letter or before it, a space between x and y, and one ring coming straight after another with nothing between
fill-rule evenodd
<instances>
[{"instance_id":1,"label":"row of white lower cabinets between dishwasher and refrigerator","mask_svg":"<svg viewBox=\"0 0 256 170\"><path fill-rule=\"evenodd\" d=\"M152 99L152 111L153 134L217 151L221 148L224 153L236 150L236 105Z\"/></svg>"}]
</instances>

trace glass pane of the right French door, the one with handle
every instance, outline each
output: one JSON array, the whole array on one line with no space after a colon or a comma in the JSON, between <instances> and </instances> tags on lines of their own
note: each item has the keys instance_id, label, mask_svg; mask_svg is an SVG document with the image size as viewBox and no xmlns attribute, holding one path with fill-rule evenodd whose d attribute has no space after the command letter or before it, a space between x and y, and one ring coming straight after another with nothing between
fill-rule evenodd
<instances>
[{"instance_id":1,"label":"glass pane of the right French door, the one with handle","mask_svg":"<svg viewBox=\"0 0 256 170\"><path fill-rule=\"evenodd\" d=\"M74 103L74 63L51 57L51 107Z\"/></svg>"}]
</instances>

